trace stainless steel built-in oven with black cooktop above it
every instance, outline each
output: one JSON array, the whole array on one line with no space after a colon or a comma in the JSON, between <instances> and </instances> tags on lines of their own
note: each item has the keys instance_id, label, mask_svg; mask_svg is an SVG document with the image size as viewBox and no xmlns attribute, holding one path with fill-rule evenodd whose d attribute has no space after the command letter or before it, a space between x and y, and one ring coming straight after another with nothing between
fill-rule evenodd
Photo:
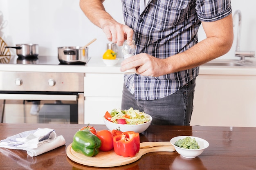
<instances>
[{"instance_id":1,"label":"stainless steel built-in oven with black cooktop above it","mask_svg":"<svg viewBox=\"0 0 256 170\"><path fill-rule=\"evenodd\" d=\"M42 59L42 64L52 65ZM17 58L9 64L40 60ZM0 71L1 122L84 124L83 79L84 73Z\"/></svg>"}]
</instances>

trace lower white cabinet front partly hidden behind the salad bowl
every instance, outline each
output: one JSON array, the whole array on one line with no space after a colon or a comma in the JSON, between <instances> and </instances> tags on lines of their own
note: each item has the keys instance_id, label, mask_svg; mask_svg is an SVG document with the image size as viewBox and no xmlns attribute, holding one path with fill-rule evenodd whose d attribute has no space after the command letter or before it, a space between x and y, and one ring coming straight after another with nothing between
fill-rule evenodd
<instances>
[{"instance_id":1,"label":"lower white cabinet front partly hidden behind the salad bowl","mask_svg":"<svg viewBox=\"0 0 256 170\"><path fill-rule=\"evenodd\" d=\"M104 124L106 111L121 108L121 97L85 97L85 124Z\"/></svg>"}]
</instances>

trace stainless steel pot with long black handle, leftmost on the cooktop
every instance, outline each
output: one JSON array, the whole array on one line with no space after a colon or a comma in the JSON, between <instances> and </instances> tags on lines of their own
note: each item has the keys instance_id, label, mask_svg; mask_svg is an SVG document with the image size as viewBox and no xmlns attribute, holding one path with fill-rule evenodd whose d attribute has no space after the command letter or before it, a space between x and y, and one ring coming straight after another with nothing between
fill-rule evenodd
<instances>
[{"instance_id":1,"label":"stainless steel pot with long black handle, leftmost on the cooktop","mask_svg":"<svg viewBox=\"0 0 256 170\"><path fill-rule=\"evenodd\" d=\"M16 44L16 46L6 46L5 48L16 49L18 57L37 57L39 52L38 44Z\"/></svg>"}]
</instances>

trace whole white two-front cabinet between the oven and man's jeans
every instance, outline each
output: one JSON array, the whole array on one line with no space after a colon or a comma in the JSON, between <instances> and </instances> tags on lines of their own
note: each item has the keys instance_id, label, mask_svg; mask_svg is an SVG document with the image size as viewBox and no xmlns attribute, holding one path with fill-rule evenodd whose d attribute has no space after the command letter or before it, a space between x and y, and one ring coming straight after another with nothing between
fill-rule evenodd
<instances>
[{"instance_id":1,"label":"whole white two-front cabinet between the oven and man's jeans","mask_svg":"<svg viewBox=\"0 0 256 170\"><path fill-rule=\"evenodd\" d=\"M104 124L106 111L121 108L123 73L85 73L85 124Z\"/></svg>"}]
</instances>

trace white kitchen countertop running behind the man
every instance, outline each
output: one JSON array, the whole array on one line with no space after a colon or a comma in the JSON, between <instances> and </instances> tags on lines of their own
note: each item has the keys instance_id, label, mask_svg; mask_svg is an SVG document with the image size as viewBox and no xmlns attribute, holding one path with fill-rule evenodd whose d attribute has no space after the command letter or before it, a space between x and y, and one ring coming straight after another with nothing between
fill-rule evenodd
<instances>
[{"instance_id":1,"label":"white kitchen countertop running behind the man","mask_svg":"<svg viewBox=\"0 0 256 170\"><path fill-rule=\"evenodd\" d=\"M39 58L40 59L40 58ZM218 59L216 59L218 60ZM40 64L0 64L0 71L18 72L60 72L60 73L120 73L120 58L115 66L106 66L101 57L91 57L85 65L40 65ZM200 66L200 75L256 75L256 67Z\"/></svg>"}]
</instances>

